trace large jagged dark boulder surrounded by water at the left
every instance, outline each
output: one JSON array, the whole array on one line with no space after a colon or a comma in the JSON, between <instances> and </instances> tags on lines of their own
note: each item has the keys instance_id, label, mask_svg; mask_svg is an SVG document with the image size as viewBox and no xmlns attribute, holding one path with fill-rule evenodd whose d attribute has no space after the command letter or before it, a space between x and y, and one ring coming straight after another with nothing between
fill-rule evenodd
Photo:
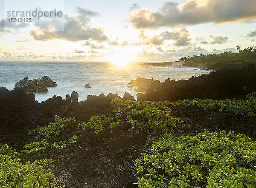
<instances>
[{"instance_id":1,"label":"large jagged dark boulder surrounded by water at the left","mask_svg":"<svg viewBox=\"0 0 256 188\"><path fill-rule=\"evenodd\" d=\"M29 80L29 77L18 81L14 88L23 89L26 93L45 93L48 91L47 87L55 87L57 84L49 77L36 78Z\"/></svg>"}]
</instances>

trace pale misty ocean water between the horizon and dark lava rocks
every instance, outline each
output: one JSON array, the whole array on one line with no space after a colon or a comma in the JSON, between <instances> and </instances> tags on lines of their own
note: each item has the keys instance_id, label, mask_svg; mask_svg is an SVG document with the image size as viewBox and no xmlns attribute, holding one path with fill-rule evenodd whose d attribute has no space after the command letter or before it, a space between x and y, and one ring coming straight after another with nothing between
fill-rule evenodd
<instances>
[{"instance_id":1,"label":"pale misty ocean water between the horizon and dark lava rocks","mask_svg":"<svg viewBox=\"0 0 256 188\"><path fill-rule=\"evenodd\" d=\"M0 87L12 90L15 83L26 76L29 80L48 76L57 83L57 87L48 88L47 93L35 94L38 102L47 100L54 95L63 99L66 94L76 91L79 101L87 99L87 95L107 95L109 93L123 96L128 92L136 98L136 91L127 88L131 79L137 77L164 80L189 79L192 76L208 74L208 70L195 68L153 67L142 66L143 62L129 63L118 66L108 62L0 62ZM92 88L84 88L90 83Z\"/></svg>"}]
</instances>

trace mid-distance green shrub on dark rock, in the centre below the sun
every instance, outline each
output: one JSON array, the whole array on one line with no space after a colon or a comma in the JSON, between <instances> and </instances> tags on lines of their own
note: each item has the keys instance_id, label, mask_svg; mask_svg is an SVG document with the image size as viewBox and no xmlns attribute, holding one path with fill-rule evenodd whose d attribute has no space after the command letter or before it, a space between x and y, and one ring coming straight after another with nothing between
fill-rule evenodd
<instances>
[{"instance_id":1,"label":"mid-distance green shrub on dark rock, in the centre below the sun","mask_svg":"<svg viewBox=\"0 0 256 188\"><path fill-rule=\"evenodd\" d=\"M165 101L136 102L114 99L111 101L111 105L118 107L113 111L114 118L93 116L88 122L79 123L78 129L90 127L98 134L108 125L111 128L117 128L124 125L126 121L131 125L131 128L166 132L172 126L183 125L183 121L172 115L168 104L169 102Z\"/></svg>"}]
</instances>

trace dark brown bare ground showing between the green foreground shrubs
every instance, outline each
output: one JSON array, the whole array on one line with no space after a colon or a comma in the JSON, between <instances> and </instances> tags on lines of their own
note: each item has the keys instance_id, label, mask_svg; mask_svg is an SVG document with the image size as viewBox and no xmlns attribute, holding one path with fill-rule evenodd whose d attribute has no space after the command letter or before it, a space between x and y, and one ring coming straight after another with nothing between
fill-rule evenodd
<instances>
[{"instance_id":1,"label":"dark brown bare ground showing between the green foreground shrubs","mask_svg":"<svg viewBox=\"0 0 256 188\"><path fill-rule=\"evenodd\" d=\"M90 106L87 108L90 109ZM106 106L97 108L100 110L97 111L95 108L94 115L106 114L106 112L108 114L113 110ZM172 114L184 121L185 125L170 128L169 134L174 136L195 135L205 129L208 131L225 129L247 134L256 140L256 117L242 117L229 112L204 111L202 108L176 106L169 108ZM87 110L82 113L85 111ZM70 114L74 115L74 113L75 111ZM90 115L93 114L90 113ZM88 114L84 114L84 117L87 116ZM79 114L79 117L83 116ZM54 172L53 185L58 188L132 188L137 187L133 184L137 182L133 173L133 161L140 156L141 152L149 153L152 142L162 136L156 132L132 130L128 125L114 130L106 128L98 135L90 128L78 131L75 125L69 125L67 130L61 132L59 140L73 134L79 137L72 147L63 150L49 148L22 155L20 159L25 162L51 158L53 163L49 166L49 170Z\"/></svg>"}]
</instances>

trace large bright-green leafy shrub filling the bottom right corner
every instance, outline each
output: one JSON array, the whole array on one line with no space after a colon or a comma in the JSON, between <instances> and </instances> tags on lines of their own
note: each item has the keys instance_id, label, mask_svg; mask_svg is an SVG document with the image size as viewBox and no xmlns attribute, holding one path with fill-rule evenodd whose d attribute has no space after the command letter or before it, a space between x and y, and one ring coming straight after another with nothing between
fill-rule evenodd
<instances>
[{"instance_id":1,"label":"large bright-green leafy shrub filling the bottom right corner","mask_svg":"<svg viewBox=\"0 0 256 188\"><path fill-rule=\"evenodd\" d=\"M135 160L138 186L244 188L256 186L256 142L232 131L164 135ZM147 169L147 171L145 171Z\"/></svg>"}]
</instances>

